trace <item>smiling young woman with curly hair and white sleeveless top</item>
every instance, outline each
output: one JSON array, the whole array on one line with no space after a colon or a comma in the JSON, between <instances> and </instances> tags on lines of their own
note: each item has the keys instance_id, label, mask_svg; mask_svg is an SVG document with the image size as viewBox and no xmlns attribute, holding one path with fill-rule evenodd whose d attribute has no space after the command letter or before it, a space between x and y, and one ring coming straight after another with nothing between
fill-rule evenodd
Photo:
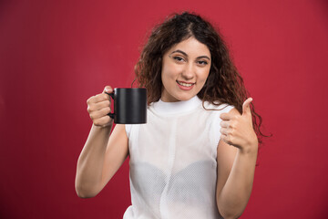
<instances>
[{"instance_id":1,"label":"smiling young woman with curly hair and white sleeveless top","mask_svg":"<svg viewBox=\"0 0 328 219\"><path fill-rule=\"evenodd\" d=\"M194 14L169 17L149 36L136 79L148 89L147 124L118 124L110 134L105 92L113 90L87 99L93 125L77 162L77 195L97 195L129 156L124 218L239 217L251 195L261 117L218 32Z\"/></svg>"}]
</instances>

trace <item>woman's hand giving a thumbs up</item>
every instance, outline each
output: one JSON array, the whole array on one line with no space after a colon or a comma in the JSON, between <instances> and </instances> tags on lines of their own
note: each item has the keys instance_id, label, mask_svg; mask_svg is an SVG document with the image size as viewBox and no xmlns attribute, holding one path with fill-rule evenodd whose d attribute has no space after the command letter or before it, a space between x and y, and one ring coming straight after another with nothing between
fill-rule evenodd
<instances>
[{"instance_id":1,"label":"woman's hand giving a thumbs up","mask_svg":"<svg viewBox=\"0 0 328 219\"><path fill-rule=\"evenodd\" d=\"M242 104L242 114L233 109L220 115L220 140L244 152L257 150L258 139L252 127L251 101L246 99Z\"/></svg>"}]
</instances>

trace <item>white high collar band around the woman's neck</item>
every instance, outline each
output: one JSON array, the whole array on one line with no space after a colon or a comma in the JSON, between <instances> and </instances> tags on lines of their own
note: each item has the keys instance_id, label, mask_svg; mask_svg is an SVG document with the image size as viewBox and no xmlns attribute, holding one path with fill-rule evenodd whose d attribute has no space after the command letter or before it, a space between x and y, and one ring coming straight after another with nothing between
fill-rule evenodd
<instances>
[{"instance_id":1,"label":"white high collar band around the woman's neck","mask_svg":"<svg viewBox=\"0 0 328 219\"><path fill-rule=\"evenodd\" d=\"M185 101L164 102L161 99L153 103L153 108L159 114L172 115L194 110L201 104L201 99L195 96Z\"/></svg>"}]
</instances>

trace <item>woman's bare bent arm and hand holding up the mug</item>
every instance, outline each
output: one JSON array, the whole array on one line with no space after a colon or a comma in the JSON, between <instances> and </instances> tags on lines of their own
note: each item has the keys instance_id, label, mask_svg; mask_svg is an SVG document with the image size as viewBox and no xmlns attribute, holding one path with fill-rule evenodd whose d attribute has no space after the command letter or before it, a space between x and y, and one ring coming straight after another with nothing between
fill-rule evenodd
<instances>
[{"instance_id":1,"label":"woman's bare bent arm and hand holding up the mug","mask_svg":"<svg viewBox=\"0 0 328 219\"><path fill-rule=\"evenodd\" d=\"M107 115L108 95L99 94L87 104L93 125L77 160L76 191L81 198L96 196L128 156L125 125L116 125L110 134L113 121Z\"/></svg>"}]
</instances>

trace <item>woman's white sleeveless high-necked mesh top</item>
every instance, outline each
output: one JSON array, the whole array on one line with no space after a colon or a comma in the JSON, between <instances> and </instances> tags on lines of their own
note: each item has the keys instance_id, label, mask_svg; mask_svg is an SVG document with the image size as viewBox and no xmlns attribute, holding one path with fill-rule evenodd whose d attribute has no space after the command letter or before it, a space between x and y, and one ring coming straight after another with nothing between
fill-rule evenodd
<instances>
[{"instance_id":1,"label":"woman's white sleeveless high-necked mesh top","mask_svg":"<svg viewBox=\"0 0 328 219\"><path fill-rule=\"evenodd\" d=\"M220 113L232 107L187 101L149 106L147 124L126 125L132 205L124 219L219 218Z\"/></svg>"}]
</instances>

